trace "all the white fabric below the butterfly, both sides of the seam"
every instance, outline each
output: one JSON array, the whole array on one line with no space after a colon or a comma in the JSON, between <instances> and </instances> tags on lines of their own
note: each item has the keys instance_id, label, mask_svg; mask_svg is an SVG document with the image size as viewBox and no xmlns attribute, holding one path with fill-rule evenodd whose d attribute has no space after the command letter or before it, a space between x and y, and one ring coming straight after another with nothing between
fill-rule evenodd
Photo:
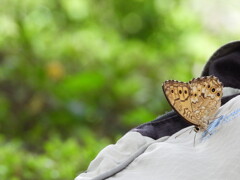
<instances>
[{"instance_id":1,"label":"all the white fabric below the butterfly, both sides of the seam","mask_svg":"<svg viewBox=\"0 0 240 180\"><path fill-rule=\"evenodd\" d=\"M211 135L202 137L202 132L197 133L195 146L195 132L189 134L192 127L157 141L136 132L128 133L116 145L105 148L88 172L75 180L108 176L108 180L240 179L240 96L223 105L216 116L220 118L208 129ZM186 129L189 131L175 138ZM144 150L140 152L141 147ZM132 162L116 171L127 159ZM99 176L104 172L108 172L107 176Z\"/></svg>"}]
</instances>

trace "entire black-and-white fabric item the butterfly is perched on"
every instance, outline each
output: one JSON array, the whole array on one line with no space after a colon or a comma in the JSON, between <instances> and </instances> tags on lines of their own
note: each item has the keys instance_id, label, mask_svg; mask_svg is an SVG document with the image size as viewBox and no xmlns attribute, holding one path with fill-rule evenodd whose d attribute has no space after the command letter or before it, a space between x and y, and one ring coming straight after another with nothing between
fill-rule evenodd
<instances>
[{"instance_id":1,"label":"entire black-and-white fabric item the butterfly is perched on","mask_svg":"<svg viewBox=\"0 0 240 180\"><path fill-rule=\"evenodd\" d=\"M75 180L240 179L240 143L236 139L240 132L238 69L240 41L217 50L203 70L202 76L215 75L225 86L224 105L216 115L219 118L208 128L211 136L199 132L195 146L195 132L175 138L193 126L171 111L104 148Z\"/></svg>"}]
</instances>

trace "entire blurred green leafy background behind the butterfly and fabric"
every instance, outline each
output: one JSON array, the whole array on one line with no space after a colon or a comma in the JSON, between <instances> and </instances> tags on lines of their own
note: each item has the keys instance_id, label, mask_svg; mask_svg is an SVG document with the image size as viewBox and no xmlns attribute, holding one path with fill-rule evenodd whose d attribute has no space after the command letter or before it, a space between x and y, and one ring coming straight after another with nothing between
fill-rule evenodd
<instances>
[{"instance_id":1,"label":"entire blurred green leafy background behind the butterfly and fabric","mask_svg":"<svg viewBox=\"0 0 240 180\"><path fill-rule=\"evenodd\" d=\"M73 179L102 148L170 110L162 82L199 76L237 39L239 7L0 0L0 179Z\"/></svg>"}]
</instances>

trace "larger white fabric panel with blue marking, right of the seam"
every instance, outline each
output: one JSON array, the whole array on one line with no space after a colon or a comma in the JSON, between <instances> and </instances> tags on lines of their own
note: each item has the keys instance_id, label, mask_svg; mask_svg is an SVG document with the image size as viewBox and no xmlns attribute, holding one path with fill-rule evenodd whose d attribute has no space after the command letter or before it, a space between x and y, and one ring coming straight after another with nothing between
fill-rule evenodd
<instances>
[{"instance_id":1,"label":"larger white fabric panel with blue marking, right of the seam","mask_svg":"<svg viewBox=\"0 0 240 180\"><path fill-rule=\"evenodd\" d=\"M240 96L222 106L216 114L211 135L199 132L193 145L193 127L167 140L149 144L129 166L108 180L235 180L240 179ZM205 136L202 136L205 134Z\"/></svg>"}]
</instances>

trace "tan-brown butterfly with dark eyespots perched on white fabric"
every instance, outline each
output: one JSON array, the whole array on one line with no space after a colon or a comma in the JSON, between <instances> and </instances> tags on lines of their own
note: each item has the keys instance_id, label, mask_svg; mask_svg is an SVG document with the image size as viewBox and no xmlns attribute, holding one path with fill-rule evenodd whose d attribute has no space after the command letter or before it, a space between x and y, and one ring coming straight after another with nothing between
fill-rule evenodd
<instances>
[{"instance_id":1,"label":"tan-brown butterfly with dark eyespots perched on white fabric","mask_svg":"<svg viewBox=\"0 0 240 180\"><path fill-rule=\"evenodd\" d=\"M168 80L162 88L172 108L195 126L195 132L206 130L221 106L223 84L215 76L194 78L188 83Z\"/></svg>"}]
</instances>

